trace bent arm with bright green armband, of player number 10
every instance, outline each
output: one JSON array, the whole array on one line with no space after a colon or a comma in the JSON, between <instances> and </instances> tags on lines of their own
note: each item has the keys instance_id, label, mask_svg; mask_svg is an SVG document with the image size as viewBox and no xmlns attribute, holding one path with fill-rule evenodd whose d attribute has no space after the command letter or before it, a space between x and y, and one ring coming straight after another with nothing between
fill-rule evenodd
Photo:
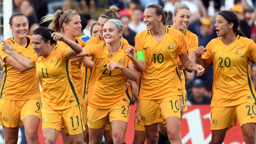
<instances>
[{"instance_id":1,"label":"bent arm with bright green armband, of player number 10","mask_svg":"<svg viewBox=\"0 0 256 144\"><path fill-rule=\"evenodd\" d=\"M137 57L134 55L134 48L130 46L127 46L126 48L126 55L130 57L132 60L132 63L134 64L134 67L139 71L139 72L145 72L146 70L146 61L145 61L145 56L143 54L142 50L139 50L136 54Z\"/></svg>"}]
</instances>

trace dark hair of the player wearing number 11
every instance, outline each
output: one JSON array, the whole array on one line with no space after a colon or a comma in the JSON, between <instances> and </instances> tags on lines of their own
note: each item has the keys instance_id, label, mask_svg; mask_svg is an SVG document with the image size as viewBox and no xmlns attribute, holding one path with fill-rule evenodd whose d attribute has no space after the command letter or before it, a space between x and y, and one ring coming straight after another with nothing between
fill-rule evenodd
<instances>
[{"instance_id":1,"label":"dark hair of the player wearing number 11","mask_svg":"<svg viewBox=\"0 0 256 144\"><path fill-rule=\"evenodd\" d=\"M57 44L57 41L55 41L51 35L54 32L55 31L52 29L48 29L46 27L40 27L33 31L33 35L41 35L44 42L50 41L50 44L52 45L52 44Z\"/></svg>"}]
</instances>

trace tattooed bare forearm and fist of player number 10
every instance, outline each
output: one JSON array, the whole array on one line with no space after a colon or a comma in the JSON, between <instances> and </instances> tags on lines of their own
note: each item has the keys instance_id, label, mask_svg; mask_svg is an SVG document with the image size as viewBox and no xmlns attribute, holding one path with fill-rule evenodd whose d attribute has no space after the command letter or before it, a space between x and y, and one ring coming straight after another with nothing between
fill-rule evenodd
<instances>
[{"instance_id":1,"label":"tattooed bare forearm and fist of player number 10","mask_svg":"<svg viewBox=\"0 0 256 144\"><path fill-rule=\"evenodd\" d=\"M197 76L202 76L204 73L204 68L201 65L194 63L193 61L189 60L187 53L184 52L183 54L179 55L181 63L184 67L188 70L195 70L197 71Z\"/></svg>"}]
</instances>

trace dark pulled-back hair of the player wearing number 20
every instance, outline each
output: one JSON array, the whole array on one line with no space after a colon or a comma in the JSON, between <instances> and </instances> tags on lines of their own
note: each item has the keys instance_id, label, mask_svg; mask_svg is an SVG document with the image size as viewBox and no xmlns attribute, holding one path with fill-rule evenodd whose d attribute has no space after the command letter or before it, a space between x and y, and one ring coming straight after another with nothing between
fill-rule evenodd
<instances>
[{"instance_id":1,"label":"dark pulled-back hair of the player wearing number 20","mask_svg":"<svg viewBox=\"0 0 256 144\"><path fill-rule=\"evenodd\" d=\"M225 18L226 21L228 21L228 23L233 23L233 31L236 35L240 35L242 37L245 37L245 34L243 34L242 31L238 30L238 26L239 26L239 19L236 16L235 13L233 13L232 11L221 11L218 13L218 15L221 15L223 18Z\"/></svg>"}]
</instances>

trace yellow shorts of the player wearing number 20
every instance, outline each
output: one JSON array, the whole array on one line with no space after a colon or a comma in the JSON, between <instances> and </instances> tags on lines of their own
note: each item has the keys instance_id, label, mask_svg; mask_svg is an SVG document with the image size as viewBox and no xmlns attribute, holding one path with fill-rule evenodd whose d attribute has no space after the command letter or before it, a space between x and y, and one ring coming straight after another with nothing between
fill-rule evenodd
<instances>
[{"instance_id":1,"label":"yellow shorts of the player wearing number 20","mask_svg":"<svg viewBox=\"0 0 256 144\"><path fill-rule=\"evenodd\" d=\"M236 118L242 126L247 123L256 123L255 103L242 103L231 107L211 107L211 130L224 129L236 126Z\"/></svg>"}]
</instances>

